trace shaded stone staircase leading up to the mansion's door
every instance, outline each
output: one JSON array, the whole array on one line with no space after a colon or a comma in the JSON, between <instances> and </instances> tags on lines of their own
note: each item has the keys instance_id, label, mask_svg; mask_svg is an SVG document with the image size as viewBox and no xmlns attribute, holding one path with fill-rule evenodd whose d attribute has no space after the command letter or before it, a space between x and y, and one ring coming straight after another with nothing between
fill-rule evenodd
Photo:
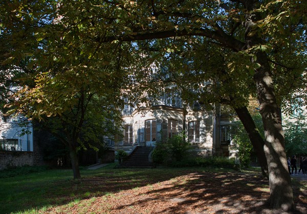
<instances>
[{"instance_id":1,"label":"shaded stone staircase leading up to the mansion's door","mask_svg":"<svg viewBox=\"0 0 307 214\"><path fill-rule=\"evenodd\" d=\"M148 156L153 147L137 147L118 168L155 168L155 164L148 161Z\"/></svg>"}]
</instances>

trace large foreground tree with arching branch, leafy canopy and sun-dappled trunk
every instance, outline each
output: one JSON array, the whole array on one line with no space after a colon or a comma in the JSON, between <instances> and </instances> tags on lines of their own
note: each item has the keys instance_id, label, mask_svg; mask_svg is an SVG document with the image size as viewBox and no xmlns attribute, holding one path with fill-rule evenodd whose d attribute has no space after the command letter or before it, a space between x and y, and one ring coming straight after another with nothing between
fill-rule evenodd
<instances>
[{"instance_id":1,"label":"large foreground tree with arching branch, leafy canopy and sun-dappled trunk","mask_svg":"<svg viewBox=\"0 0 307 214\"><path fill-rule=\"evenodd\" d=\"M289 210L280 107L290 94L306 94L306 12L299 0L2 2L0 60L16 66L26 60L31 75L16 94L15 110L29 116L61 114L76 94L69 84L83 81L99 96L113 94L112 101L145 101L157 89L152 63L167 68L167 81L238 114L257 97L270 204Z\"/></svg>"}]
</instances>

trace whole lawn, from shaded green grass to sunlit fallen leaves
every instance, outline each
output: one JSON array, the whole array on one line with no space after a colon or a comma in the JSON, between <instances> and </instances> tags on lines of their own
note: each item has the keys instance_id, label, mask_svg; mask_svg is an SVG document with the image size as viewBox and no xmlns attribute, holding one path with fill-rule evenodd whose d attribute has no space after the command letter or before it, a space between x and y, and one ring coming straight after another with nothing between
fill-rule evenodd
<instances>
[{"instance_id":1,"label":"whole lawn, from shaded green grass to sunlit fallen leaves","mask_svg":"<svg viewBox=\"0 0 307 214\"><path fill-rule=\"evenodd\" d=\"M0 174L1 175L1 174ZM45 170L0 178L0 213L259 213L269 197L258 170L208 168ZM298 213L306 181L293 179Z\"/></svg>"}]
</instances>

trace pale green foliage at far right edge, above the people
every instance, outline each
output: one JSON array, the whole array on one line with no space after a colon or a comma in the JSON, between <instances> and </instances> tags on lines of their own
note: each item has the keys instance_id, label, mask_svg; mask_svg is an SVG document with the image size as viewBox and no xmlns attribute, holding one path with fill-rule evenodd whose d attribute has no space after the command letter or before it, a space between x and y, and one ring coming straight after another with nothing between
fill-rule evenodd
<instances>
[{"instance_id":1,"label":"pale green foliage at far right edge, above the people","mask_svg":"<svg viewBox=\"0 0 307 214\"><path fill-rule=\"evenodd\" d=\"M283 124L287 155L307 155L306 117L302 114L297 117L286 117Z\"/></svg>"}]
</instances>

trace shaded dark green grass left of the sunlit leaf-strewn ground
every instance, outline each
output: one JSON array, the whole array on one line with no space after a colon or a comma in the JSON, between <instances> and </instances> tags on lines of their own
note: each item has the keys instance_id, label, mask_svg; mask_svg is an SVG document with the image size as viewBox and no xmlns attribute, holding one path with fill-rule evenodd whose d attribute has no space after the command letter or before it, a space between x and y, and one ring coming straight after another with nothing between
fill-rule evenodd
<instances>
[{"instance_id":1,"label":"shaded dark green grass left of the sunlit leaf-strewn ground","mask_svg":"<svg viewBox=\"0 0 307 214\"><path fill-rule=\"evenodd\" d=\"M0 213L35 211L65 205L75 200L146 186L186 173L186 170L178 169L113 169L111 165L95 171L82 170L83 178L80 180L71 178L71 170L48 170L0 179Z\"/></svg>"}]
</instances>

